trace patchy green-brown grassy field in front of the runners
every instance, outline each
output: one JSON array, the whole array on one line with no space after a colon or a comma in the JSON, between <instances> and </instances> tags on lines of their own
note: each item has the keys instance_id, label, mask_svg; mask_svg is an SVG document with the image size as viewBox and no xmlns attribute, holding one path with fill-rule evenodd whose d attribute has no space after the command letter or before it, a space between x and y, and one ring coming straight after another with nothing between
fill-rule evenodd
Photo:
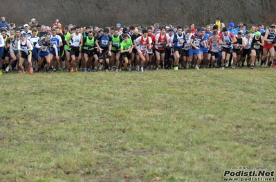
<instances>
[{"instance_id":1,"label":"patchy green-brown grassy field in front of the runners","mask_svg":"<svg viewBox=\"0 0 276 182\"><path fill-rule=\"evenodd\" d=\"M0 181L223 181L276 167L275 69L0 76Z\"/></svg>"}]
</instances>

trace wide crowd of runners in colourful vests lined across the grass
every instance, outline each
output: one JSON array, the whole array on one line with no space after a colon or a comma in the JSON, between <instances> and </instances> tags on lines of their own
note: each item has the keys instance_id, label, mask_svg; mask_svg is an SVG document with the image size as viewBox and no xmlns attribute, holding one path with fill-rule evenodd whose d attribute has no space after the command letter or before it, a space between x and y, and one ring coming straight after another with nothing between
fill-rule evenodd
<instances>
[{"instance_id":1,"label":"wide crowd of runners in colourful vests lined across the grass","mask_svg":"<svg viewBox=\"0 0 276 182\"><path fill-rule=\"evenodd\" d=\"M204 27L51 26L36 19L17 27L0 21L1 70L39 71L148 71L275 66L275 25L228 27L217 19Z\"/></svg>"}]
</instances>

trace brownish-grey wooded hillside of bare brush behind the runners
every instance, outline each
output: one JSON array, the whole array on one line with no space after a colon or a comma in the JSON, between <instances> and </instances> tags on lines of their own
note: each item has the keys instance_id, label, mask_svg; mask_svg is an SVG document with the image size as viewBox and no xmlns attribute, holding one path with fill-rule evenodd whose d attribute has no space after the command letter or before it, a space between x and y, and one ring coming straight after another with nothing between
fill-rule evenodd
<instances>
[{"instance_id":1,"label":"brownish-grey wooded hillside of bare brush behind the runners","mask_svg":"<svg viewBox=\"0 0 276 182\"><path fill-rule=\"evenodd\" d=\"M219 17L226 25L246 22L275 23L273 0L1 0L0 16L15 21L17 26L35 18L39 24L51 25L59 19L62 25L115 26L194 23L205 26Z\"/></svg>"}]
</instances>

